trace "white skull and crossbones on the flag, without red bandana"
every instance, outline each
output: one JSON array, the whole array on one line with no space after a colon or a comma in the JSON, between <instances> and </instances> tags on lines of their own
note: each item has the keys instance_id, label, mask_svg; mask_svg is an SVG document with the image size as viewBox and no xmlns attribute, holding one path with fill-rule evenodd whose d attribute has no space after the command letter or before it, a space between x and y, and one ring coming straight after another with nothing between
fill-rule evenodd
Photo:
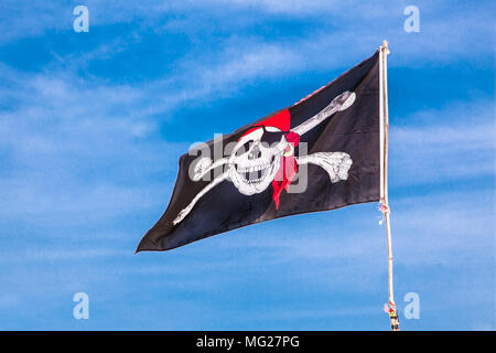
<instances>
[{"instance_id":1,"label":"white skull and crossbones on the flag, without red bandana","mask_svg":"<svg viewBox=\"0 0 496 353\"><path fill-rule=\"evenodd\" d=\"M254 195L267 190L278 175L281 159L284 157L293 158L293 147L298 142L293 142L291 135L299 139L300 136L312 130L334 113L347 109L354 101L355 93L346 90L335 97L319 114L292 128L291 131L282 131L273 126L258 125L238 140L229 157L220 158L215 162L209 158L202 158L194 167L192 180L195 182L215 168L226 165L227 169L220 175L214 178L193 197L186 207L181 210L173 224L182 222L193 210L196 202L223 181L231 181L244 195ZM282 111L282 114L287 114L288 119L290 118L288 110ZM353 163L349 154L345 152L314 152L309 156L294 157L294 161L298 164L311 163L321 167L328 173L333 183L346 180ZM291 180L289 180L290 182Z\"/></svg>"}]
</instances>

